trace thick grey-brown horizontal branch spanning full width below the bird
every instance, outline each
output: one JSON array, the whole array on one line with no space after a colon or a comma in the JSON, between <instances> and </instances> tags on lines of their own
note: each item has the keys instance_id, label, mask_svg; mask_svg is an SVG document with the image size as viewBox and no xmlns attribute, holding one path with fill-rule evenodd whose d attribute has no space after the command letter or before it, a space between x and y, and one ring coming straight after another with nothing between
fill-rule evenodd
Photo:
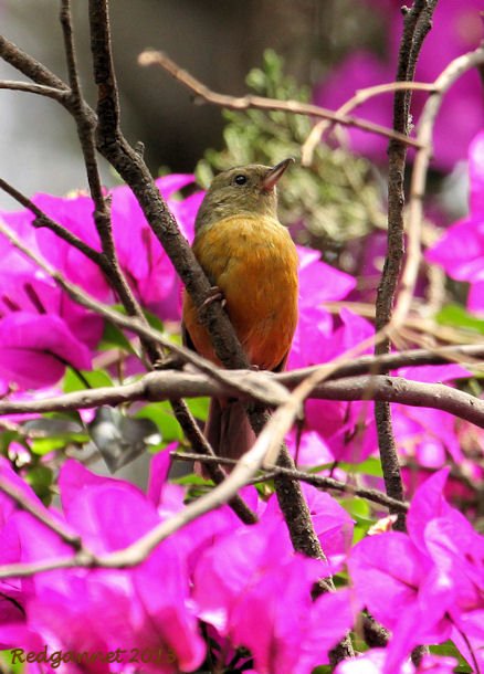
<instances>
[{"instance_id":1,"label":"thick grey-brown horizontal branch spanning full width below the bird","mask_svg":"<svg viewBox=\"0 0 484 674\"><path fill-rule=\"evenodd\" d=\"M345 366L343 366L344 368ZM223 370L222 370L223 371ZM266 403L263 391L271 391L273 385L284 385L294 390L303 381L317 375L324 377L325 366L293 372L272 375L251 370L224 371L224 381L217 381L207 375L166 370L148 372L134 383L74 391L41 400L0 401L1 414L25 412L66 412L96 408L103 404L116 406L137 400L161 401L172 398L198 398L206 396L238 397L238 382L245 381L242 399L254 398ZM284 389L282 389L284 390ZM252 391L252 393L248 392ZM273 396L269 396L274 400ZM280 397L278 404L288 400L288 392ZM308 393L317 400L383 400L411 407L424 407L449 412L480 428L484 428L484 400L443 383L411 381L403 377L370 375L319 381ZM201 452L207 453L207 452Z\"/></svg>"}]
</instances>

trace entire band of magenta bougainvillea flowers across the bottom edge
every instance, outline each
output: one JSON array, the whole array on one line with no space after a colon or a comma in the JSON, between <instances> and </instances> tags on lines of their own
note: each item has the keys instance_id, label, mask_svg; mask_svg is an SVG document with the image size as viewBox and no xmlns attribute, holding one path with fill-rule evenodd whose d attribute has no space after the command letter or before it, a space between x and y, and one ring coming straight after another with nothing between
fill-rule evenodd
<instances>
[{"instance_id":1,"label":"entire band of magenta bougainvillea flowers across the bottom edge","mask_svg":"<svg viewBox=\"0 0 484 674\"><path fill-rule=\"evenodd\" d=\"M4 460L0 473L39 513L103 557L185 507L182 487L166 482L168 456L161 452L151 462L146 495L67 461L60 477L62 512L48 512ZM484 639L484 539L443 498L446 477L443 470L417 492L408 535L375 535L353 549L351 518L330 496L306 487L325 561L294 552L275 497L264 503L246 488L260 517L250 527L223 506L164 540L133 569L64 568L1 581L0 642L33 653L46 646L43 672L55 671L54 653L64 653L65 674L136 672L138 653L147 672L193 672L208 657L220 671L311 674L328 662L366 608L391 630L389 647L364 656L377 663L375 670L357 668L355 661L341 664L340 674L413 671L407 659L417 644L449 638L473 662L482 659ZM0 498L0 522L1 564L49 564L74 554L7 496ZM316 581L341 564L350 588L314 599ZM108 652L117 653L111 663L93 656ZM435 665L435 659L429 662ZM452 672L452 659L436 664L432 671ZM427 665L419 668L424 671Z\"/></svg>"}]
</instances>

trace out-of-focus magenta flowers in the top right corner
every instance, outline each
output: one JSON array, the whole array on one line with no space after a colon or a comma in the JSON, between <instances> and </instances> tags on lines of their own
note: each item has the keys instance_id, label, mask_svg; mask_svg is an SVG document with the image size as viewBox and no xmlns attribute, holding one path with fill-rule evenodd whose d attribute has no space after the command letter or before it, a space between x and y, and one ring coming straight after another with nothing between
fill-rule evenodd
<instances>
[{"instance_id":1,"label":"out-of-focus magenta flowers in the top right corner","mask_svg":"<svg viewBox=\"0 0 484 674\"><path fill-rule=\"evenodd\" d=\"M368 3L377 4L383 18L383 30L388 35L386 60L380 61L364 51L349 54L316 89L315 99L319 105L335 108L350 98L358 88L394 81L402 30L400 3L392 0L368 0ZM478 45L482 39L481 10L480 0L442 0L438 3L433 28L425 38L419 57L417 81L433 82L453 59ZM452 170L456 161L465 158L465 148L484 124L480 92L478 74L472 71L461 77L445 96L434 131L433 165L436 168ZM411 113L417 122L425 99L424 94L413 95ZM365 103L356 114L391 127L391 94L385 94ZM459 124L459 119L465 119L465 124ZM356 151L386 162L386 139L356 129L350 129L348 134Z\"/></svg>"}]
</instances>

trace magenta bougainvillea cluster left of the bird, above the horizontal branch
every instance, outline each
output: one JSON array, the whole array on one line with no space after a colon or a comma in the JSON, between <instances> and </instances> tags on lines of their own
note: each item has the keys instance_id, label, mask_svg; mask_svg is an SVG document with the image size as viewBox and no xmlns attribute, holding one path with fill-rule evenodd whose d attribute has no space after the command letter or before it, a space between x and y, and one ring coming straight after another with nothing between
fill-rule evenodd
<instances>
[{"instance_id":1,"label":"magenta bougainvillea cluster left of the bird, above the horizontal branch","mask_svg":"<svg viewBox=\"0 0 484 674\"><path fill-rule=\"evenodd\" d=\"M171 175L157 181L177 217L182 233L193 234L194 214L202 194L185 200L173 194L193 181L190 175ZM162 319L180 317L180 282L127 187L112 190L113 235L119 265L144 307ZM69 198L38 194L35 206L86 244L99 250L93 220L93 201L83 194ZM32 227L28 211L2 212L0 218L33 251L87 293L114 303L113 291L99 267L46 228ZM65 366L90 369L103 334L99 317L75 304L52 278L0 236L0 390L9 386L36 389L57 382Z\"/></svg>"}]
</instances>

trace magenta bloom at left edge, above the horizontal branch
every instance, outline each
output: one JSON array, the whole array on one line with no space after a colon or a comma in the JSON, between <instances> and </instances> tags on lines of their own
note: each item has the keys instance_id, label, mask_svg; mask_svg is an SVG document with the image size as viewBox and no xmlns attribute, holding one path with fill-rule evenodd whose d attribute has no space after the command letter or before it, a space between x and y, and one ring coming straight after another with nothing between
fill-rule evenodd
<instances>
[{"instance_id":1,"label":"magenta bloom at left edge, above the horizontal branch","mask_svg":"<svg viewBox=\"0 0 484 674\"><path fill-rule=\"evenodd\" d=\"M41 232L30 225L31 214L21 211L2 218L33 251L43 252ZM60 259L55 245L48 250L67 273L71 266ZM21 389L40 388L59 381L67 365L90 369L103 320L67 297L2 236L0 256L0 379Z\"/></svg>"}]
</instances>

